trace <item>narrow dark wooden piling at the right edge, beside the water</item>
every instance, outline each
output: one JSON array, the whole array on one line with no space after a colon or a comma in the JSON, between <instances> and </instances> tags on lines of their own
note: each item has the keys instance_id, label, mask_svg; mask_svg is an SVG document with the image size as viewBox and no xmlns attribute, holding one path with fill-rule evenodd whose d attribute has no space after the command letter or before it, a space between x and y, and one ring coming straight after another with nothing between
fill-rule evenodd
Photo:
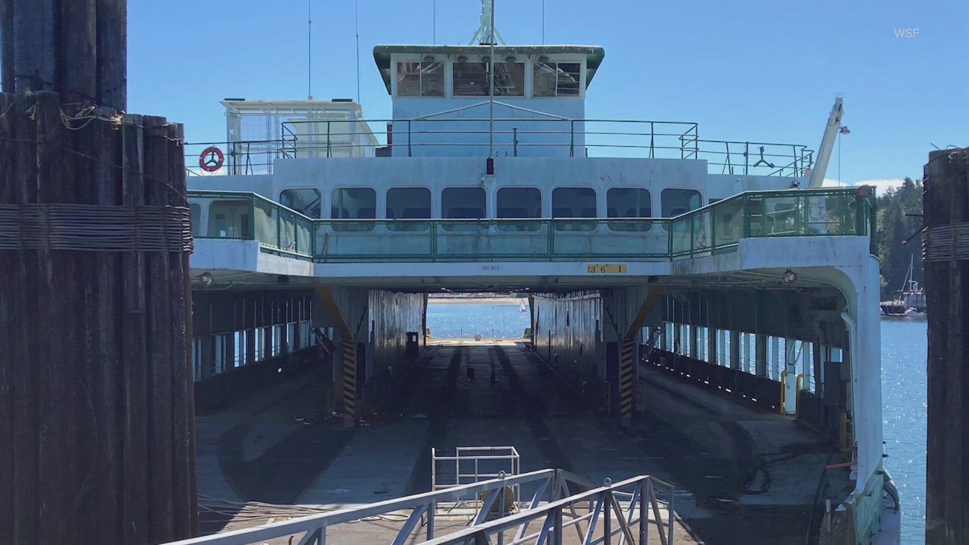
<instances>
[{"instance_id":1,"label":"narrow dark wooden piling at the right edge, beside the water","mask_svg":"<svg viewBox=\"0 0 969 545\"><path fill-rule=\"evenodd\" d=\"M925 543L969 543L969 148L928 154L922 196L928 316Z\"/></svg>"}]
</instances>

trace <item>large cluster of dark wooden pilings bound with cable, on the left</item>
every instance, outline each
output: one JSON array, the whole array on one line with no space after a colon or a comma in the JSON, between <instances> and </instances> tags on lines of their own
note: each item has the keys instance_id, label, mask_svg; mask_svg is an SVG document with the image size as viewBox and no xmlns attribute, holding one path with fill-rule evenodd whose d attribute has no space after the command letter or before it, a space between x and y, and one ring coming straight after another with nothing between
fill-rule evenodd
<instances>
[{"instance_id":1,"label":"large cluster of dark wooden pilings bound with cable, on the left","mask_svg":"<svg viewBox=\"0 0 969 545\"><path fill-rule=\"evenodd\" d=\"M0 543L192 536L181 126L122 113L124 0L0 16Z\"/></svg>"}]
</instances>

